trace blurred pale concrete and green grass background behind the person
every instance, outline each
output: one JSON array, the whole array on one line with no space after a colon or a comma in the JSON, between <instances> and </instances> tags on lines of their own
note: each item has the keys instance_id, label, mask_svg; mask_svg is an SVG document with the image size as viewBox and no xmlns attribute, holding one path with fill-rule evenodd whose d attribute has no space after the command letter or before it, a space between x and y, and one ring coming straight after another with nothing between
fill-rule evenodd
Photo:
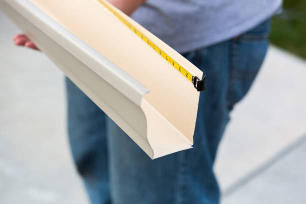
<instances>
[{"instance_id":1,"label":"blurred pale concrete and green grass background behind the person","mask_svg":"<svg viewBox=\"0 0 306 204\"><path fill-rule=\"evenodd\" d=\"M0 13L0 203L88 203L66 138L63 74L16 47ZM231 113L215 172L222 203L306 203L306 1L284 0L271 46Z\"/></svg>"}]
</instances>

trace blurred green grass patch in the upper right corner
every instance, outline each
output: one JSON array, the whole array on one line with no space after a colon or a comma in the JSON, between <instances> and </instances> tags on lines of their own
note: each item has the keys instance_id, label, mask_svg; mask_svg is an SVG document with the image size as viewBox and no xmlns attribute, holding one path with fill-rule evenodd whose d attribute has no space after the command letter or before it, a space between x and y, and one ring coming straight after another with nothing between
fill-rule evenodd
<instances>
[{"instance_id":1,"label":"blurred green grass patch in the upper right corner","mask_svg":"<svg viewBox=\"0 0 306 204\"><path fill-rule=\"evenodd\" d=\"M306 58L306 0L284 0L271 28L272 44Z\"/></svg>"}]
</instances>

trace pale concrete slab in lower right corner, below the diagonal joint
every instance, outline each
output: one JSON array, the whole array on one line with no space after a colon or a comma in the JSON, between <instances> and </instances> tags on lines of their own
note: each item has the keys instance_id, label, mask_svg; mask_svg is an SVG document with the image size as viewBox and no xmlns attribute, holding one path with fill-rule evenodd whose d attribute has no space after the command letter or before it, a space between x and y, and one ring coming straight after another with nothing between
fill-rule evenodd
<instances>
[{"instance_id":1,"label":"pale concrete slab in lower right corner, below the diagonal joint","mask_svg":"<svg viewBox=\"0 0 306 204\"><path fill-rule=\"evenodd\" d=\"M228 193L223 203L287 204L306 202L306 135L272 165L261 169L253 179Z\"/></svg>"}]
</instances>

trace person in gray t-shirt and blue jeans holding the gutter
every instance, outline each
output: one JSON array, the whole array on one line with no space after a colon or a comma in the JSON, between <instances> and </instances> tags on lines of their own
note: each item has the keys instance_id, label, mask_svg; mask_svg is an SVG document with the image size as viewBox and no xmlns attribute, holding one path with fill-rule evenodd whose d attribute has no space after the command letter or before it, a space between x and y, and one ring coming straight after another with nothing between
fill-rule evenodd
<instances>
[{"instance_id":1,"label":"person in gray t-shirt and blue jeans holding the gutter","mask_svg":"<svg viewBox=\"0 0 306 204\"><path fill-rule=\"evenodd\" d=\"M229 112L266 54L281 0L108 0L200 68L194 145L151 160L66 78L68 135L91 203L219 203L213 173ZM15 44L38 49L25 35ZM175 113L174 113L175 114Z\"/></svg>"}]
</instances>

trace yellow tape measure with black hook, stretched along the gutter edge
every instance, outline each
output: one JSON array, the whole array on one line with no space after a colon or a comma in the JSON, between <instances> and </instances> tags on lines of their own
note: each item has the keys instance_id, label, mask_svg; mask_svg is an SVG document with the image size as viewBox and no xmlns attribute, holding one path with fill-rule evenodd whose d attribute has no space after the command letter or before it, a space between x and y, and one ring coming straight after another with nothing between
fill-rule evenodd
<instances>
[{"instance_id":1,"label":"yellow tape measure with black hook, stretched along the gutter edge","mask_svg":"<svg viewBox=\"0 0 306 204\"><path fill-rule=\"evenodd\" d=\"M156 46L151 40L149 40L144 34L142 34L137 28L130 24L126 19L124 19L119 13L117 13L112 7L110 7L104 0L98 0L102 5L104 5L110 12L112 12L119 20L121 20L129 29L131 29L136 35L138 35L144 42L146 42L150 47L152 47L160 56L162 56L167 62L169 62L174 68L176 68L182 75L184 75L189 81L191 81L194 87L198 91L205 89L204 80L206 76L200 80L197 76L193 76L185 68L183 68L179 63L172 59L167 53L162 51L158 46Z\"/></svg>"}]
</instances>

